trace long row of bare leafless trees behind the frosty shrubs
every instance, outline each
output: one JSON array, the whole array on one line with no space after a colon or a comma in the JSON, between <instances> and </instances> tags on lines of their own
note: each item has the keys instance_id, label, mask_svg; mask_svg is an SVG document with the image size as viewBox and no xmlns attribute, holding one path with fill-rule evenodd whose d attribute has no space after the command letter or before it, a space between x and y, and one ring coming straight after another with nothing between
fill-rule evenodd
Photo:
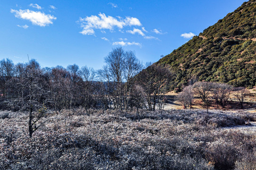
<instances>
[{"instance_id":1,"label":"long row of bare leafless trees behind the frosty shrubs","mask_svg":"<svg viewBox=\"0 0 256 170\"><path fill-rule=\"evenodd\" d=\"M0 107L26 111L30 136L47 117L46 110L60 113L78 107L86 112L136 108L138 114L139 109L163 109L171 78L168 68L153 64L143 69L135 52L121 47L112 49L104 60L106 65L94 70L76 64L67 68L41 68L34 59L15 65L10 59L2 59Z\"/></svg>"}]
</instances>

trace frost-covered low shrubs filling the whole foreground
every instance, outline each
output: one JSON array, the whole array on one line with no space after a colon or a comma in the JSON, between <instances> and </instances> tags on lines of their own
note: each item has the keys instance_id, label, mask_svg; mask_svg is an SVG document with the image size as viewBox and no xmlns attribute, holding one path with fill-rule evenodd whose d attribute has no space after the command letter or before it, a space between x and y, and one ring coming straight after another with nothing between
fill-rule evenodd
<instances>
[{"instance_id":1,"label":"frost-covered low shrubs filling the whole foreground","mask_svg":"<svg viewBox=\"0 0 256 170\"><path fill-rule=\"evenodd\" d=\"M251 170L256 132L224 130L256 120L211 110L64 110L27 134L24 112L1 111L0 167L15 169Z\"/></svg>"}]
</instances>

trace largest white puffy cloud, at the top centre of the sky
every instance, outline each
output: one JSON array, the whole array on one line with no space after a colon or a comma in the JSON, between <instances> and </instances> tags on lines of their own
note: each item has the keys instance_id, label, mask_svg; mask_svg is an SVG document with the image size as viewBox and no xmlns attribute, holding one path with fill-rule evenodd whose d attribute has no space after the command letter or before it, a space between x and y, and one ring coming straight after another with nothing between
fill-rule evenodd
<instances>
[{"instance_id":1,"label":"largest white puffy cloud, at the top centre of the sky","mask_svg":"<svg viewBox=\"0 0 256 170\"><path fill-rule=\"evenodd\" d=\"M107 17L104 13L99 13L99 17L87 16L80 18L77 22L81 23L83 31L80 33L84 35L94 34L94 29L109 29L113 31L115 27L122 29L124 26L141 26L140 21L135 17L125 17L125 19L121 17Z\"/></svg>"}]
</instances>

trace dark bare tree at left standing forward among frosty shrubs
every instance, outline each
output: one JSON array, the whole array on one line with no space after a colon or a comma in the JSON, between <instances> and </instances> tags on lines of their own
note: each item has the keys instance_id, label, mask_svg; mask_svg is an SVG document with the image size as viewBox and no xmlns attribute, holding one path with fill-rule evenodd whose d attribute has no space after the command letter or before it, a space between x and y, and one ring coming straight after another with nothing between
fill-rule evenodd
<instances>
[{"instance_id":1,"label":"dark bare tree at left standing forward among frosty shrubs","mask_svg":"<svg viewBox=\"0 0 256 170\"><path fill-rule=\"evenodd\" d=\"M28 112L28 131L32 137L34 131L43 125L41 121L46 116L47 91L45 79L39 64L30 60L26 65L18 65L22 75L9 80L9 98L6 101L10 109L20 109ZM21 68L24 67L24 68Z\"/></svg>"}]
</instances>

